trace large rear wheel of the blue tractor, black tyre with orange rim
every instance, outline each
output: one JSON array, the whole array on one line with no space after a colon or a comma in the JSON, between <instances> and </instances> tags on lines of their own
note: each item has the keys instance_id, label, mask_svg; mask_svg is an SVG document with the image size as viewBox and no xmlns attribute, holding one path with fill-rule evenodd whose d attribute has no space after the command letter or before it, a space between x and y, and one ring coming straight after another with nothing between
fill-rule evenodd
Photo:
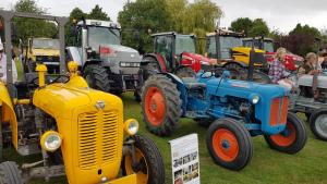
<instances>
[{"instance_id":1,"label":"large rear wheel of the blue tractor, black tyre with orange rim","mask_svg":"<svg viewBox=\"0 0 327 184\"><path fill-rule=\"evenodd\" d=\"M142 113L149 132L170 135L182 113L182 100L177 85L165 75L153 75L142 89Z\"/></svg>"}]
</instances>

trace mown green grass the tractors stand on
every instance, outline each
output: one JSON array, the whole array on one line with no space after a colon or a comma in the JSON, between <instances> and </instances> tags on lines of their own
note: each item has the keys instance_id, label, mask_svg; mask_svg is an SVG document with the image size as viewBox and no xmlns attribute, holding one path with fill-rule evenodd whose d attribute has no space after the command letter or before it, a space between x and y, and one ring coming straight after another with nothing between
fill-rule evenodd
<instances>
[{"instance_id":1,"label":"mown green grass the tractors stand on","mask_svg":"<svg viewBox=\"0 0 327 184\"><path fill-rule=\"evenodd\" d=\"M194 121L182 119L180 127L173 136L156 137L145 130L140 105L134 100L133 95L125 94L122 99L124 101L125 118L137 119L141 122L140 133L148 135L158 145L165 159L167 184L172 183L168 140L191 133L197 133L199 138L202 184L327 184L327 143L315 139L310 130L307 130L310 136L305 148L293 156L269 149L261 136L253 138L254 156L251 163L244 170L233 172L214 164L205 144L206 130L198 126ZM304 116L301 118L305 120ZM7 157L22 161L22 158L16 157L13 151L7 152ZM32 184L41 183L44 183L43 180L32 182ZM61 184L65 183L65 180L57 179L50 183Z\"/></svg>"}]
</instances>

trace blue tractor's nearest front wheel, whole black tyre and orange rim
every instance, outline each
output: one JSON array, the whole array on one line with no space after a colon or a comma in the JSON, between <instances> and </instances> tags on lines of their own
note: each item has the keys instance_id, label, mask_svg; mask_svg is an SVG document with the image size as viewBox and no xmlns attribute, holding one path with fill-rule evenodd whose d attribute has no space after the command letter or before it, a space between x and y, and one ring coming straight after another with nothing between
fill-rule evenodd
<instances>
[{"instance_id":1,"label":"blue tractor's nearest front wheel, whole black tyre and orange rim","mask_svg":"<svg viewBox=\"0 0 327 184\"><path fill-rule=\"evenodd\" d=\"M249 131L232 119L216 120L208 130L207 148L214 161L230 170L243 169L252 159Z\"/></svg>"}]
</instances>

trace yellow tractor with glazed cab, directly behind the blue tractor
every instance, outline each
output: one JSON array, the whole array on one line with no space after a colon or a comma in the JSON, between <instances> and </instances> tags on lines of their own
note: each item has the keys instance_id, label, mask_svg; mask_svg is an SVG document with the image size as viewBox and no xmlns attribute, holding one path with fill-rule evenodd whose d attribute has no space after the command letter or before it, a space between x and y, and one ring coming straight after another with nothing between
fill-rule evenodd
<instances>
[{"instance_id":1,"label":"yellow tractor with glazed cab, directly behind the blue tractor","mask_svg":"<svg viewBox=\"0 0 327 184\"><path fill-rule=\"evenodd\" d=\"M266 72L267 62L265 59L265 51L243 47L242 38L245 35L226 29L217 29L214 33L206 35L206 57L217 63L219 68L227 69L231 72L231 77L234 79L249 79L251 72L251 53L254 53L255 60L253 65L255 71L253 73L253 81L268 83L269 77L262 71ZM254 52L252 52L252 49ZM254 57L253 57L254 58ZM259 71L257 70L259 69Z\"/></svg>"}]
</instances>

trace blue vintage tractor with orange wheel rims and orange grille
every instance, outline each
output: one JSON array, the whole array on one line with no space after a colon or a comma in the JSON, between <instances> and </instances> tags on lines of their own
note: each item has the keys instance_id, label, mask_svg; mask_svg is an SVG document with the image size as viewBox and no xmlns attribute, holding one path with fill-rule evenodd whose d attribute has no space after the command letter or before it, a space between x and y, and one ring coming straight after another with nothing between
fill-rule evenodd
<instances>
[{"instance_id":1,"label":"blue vintage tractor with orange wheel rims and orange grille","mask_svg":"<svg viewBox=\"0 0 327 184\"><path fill-rule=\"evenodd\" d=\"M179 78L150 76L142 90L146 127L159 136L175 131L180 118L208 125L207 148L214 161L241 170L251 160L251 136L264 135L270 148L296 154L307 139L304 123L288 112L289 91L280 86L230 79L211 72Z\"/></svg>"}]
</instances>

